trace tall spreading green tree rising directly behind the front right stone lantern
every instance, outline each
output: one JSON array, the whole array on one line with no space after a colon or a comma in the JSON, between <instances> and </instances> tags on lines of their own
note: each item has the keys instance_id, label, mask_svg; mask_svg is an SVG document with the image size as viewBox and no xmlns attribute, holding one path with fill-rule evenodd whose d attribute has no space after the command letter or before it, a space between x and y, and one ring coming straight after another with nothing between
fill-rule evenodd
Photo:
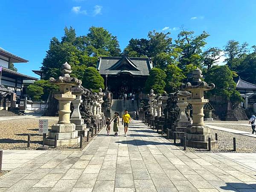
<instances>
[{"instance_id":1,"label":"tall spreading green tree rising directly behind the front right stone lantern","mask_svg":"<svg viewBox=\"0 0 256 192\"><path fill-rule=\"evenodd\" d=\"M194 35L193 31L181 31L175 40L175 47L181 49L180 57L178 58L180 69L185 69L186 65L193 64L201 67L202 48L207 44L206 38L209 33L203 32L200 35Z\"/></svg>"}]
</instances>

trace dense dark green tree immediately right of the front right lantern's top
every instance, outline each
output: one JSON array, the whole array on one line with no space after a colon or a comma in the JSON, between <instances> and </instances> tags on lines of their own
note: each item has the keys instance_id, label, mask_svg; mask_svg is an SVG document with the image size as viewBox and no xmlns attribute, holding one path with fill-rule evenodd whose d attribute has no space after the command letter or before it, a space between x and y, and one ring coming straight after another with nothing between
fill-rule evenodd
<instances>
[{"instance_id":1,"label":"dense dark green tree immediately right of the front right lantern's top","mask_svg":"<svg viewBox=\"0 0 256 192\"><path fill-rule=\"evenodd\" d=\"M243 101L240 93L236 90L236 83L233 80L233 73L227 65L213 66L205 76L207 83L214 83L215 89L208 91L209 95L224 96L233 105Z\"/></svg>"}]
</instances>

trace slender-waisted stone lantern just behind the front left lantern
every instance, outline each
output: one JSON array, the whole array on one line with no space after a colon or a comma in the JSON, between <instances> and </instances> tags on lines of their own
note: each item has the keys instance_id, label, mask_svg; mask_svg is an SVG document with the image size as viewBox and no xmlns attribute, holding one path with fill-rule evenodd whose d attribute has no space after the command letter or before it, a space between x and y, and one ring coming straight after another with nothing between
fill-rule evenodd
<instances>
[{"instance_id":1,"label":"slender-waisted stone lantern just behind the front left lantern","mask_svg":"<svg viewBox=\"0 0 256 192\"><path fill-rule=\"evenodd\" d=\"M76 99L72 101L74 105L74 111L70 117L70 122L76 125L76 131L78 131L78 135L84 135L86 132L86 124L84 124L84 119L81 117L80 113L80 105L83 102L82 95L85 95L89 90L85 89L81 85L72 87L72 93L76 96Z\"/></svg>"}]
</instances>

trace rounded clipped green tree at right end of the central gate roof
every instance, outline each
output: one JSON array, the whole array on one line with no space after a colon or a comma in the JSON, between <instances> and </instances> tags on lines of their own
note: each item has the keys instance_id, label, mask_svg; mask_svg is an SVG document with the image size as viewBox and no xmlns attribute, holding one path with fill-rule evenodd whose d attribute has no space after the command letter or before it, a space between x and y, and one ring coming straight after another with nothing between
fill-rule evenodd
<instances>
[{"instance_id":1,"label":"rounded clipped green tree at right end of the central gate roof","mask_svg":"<svg viewBox=\"0 0 256 192\"><path fill-rule=\"evenodd\" d=\"M149 93L151 89L155 93L163 93L166 86L166 73L159 68L152 68L149 72L148 79L145 82L145 93Z\"/></svg>"}]
</instances>

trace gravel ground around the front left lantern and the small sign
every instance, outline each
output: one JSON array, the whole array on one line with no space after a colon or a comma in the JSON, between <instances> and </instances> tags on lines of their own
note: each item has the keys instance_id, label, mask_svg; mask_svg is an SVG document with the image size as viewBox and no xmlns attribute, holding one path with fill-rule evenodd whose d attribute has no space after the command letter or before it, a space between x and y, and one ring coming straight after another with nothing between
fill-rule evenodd
<instances>
[{"instance_id":1,"label":"gravel ground around the front left lantern and the small sign","mask_svg":"<svg viewBox=\"0 0 256 192\"><path fill-rule=\"evenodd\" d=\"M42 146L43 136L38 134L38 119L9 119L0 121L0 149L36 150L39 146ZM52 117L40 119L48 119L49 125L58 122L57 118ZM31 135L30 148L27 148L28 134ZM83 148L92 140L92 137L89 138L89 142L86 142L86 139L86 137L83 138ZM81 150L79 146L65 145L57 148L49 146L49 150Z\"/></svg>"}]
</instances>

